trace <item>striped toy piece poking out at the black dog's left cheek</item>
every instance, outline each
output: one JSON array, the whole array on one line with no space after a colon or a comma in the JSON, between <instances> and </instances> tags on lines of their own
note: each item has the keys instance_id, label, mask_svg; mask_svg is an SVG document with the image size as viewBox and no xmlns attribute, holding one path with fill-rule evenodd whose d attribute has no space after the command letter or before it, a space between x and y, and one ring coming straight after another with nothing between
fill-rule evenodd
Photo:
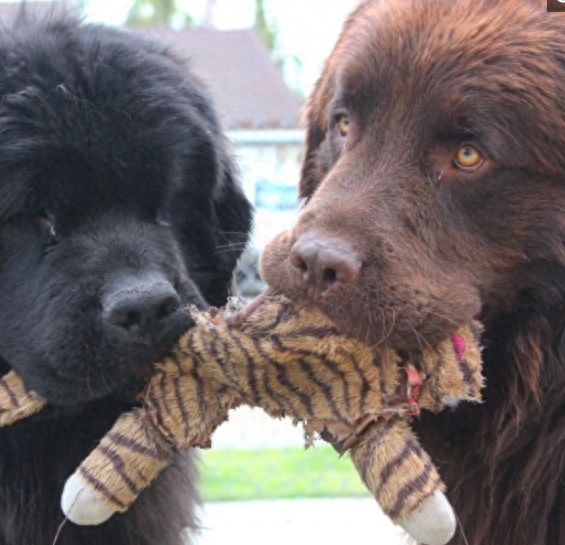
<instances>
[{"instance_id":1,"label":"striped toy piece poking out at the black dog's left cheek","mask_svg":"<svg viewBox=\"0 0 565 545\"><path fill-rule=\"evenodd\" d=\"M22 379L10 371L0 379L0 426L31 416L45 406L45 400L25 387Z\"/></svg>"}]
</instances>

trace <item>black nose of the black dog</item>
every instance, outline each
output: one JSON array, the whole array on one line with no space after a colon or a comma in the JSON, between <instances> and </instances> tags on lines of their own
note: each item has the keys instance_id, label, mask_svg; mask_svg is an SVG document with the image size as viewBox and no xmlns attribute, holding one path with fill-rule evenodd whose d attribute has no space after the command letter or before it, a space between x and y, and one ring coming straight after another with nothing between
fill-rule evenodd
<instances>
[{"instance_id":1,"label":"black nose of the black dog","mask_svg":"<svg viewBox=\"0 0 565 545\"><path fill-rule=\"evenodd\" d=\"M166 280L124 279L103 298L104 318L124 329L153 330L179 306L179 296Z\"/></svg>"}]
</instances>

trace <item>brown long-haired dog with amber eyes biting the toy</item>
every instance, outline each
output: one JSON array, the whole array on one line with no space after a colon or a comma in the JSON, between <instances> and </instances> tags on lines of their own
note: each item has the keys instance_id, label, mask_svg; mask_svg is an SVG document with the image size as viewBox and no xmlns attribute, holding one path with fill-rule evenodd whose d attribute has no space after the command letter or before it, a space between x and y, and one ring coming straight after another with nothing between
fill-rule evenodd
<instances>
[{"instance_id":1,"label":"brown long-haired dog with amber eyes biting the toy","mask_svg":"<svg viewBox=\"0 0 565 545\"><path fill-rule=\"evenodd\" d=\"M457 544L565 544L564 17L362 1L308 101L306 204L263 256L373 343L484 322L486 402L416 423Z\"/></svg>"}]
</instances>

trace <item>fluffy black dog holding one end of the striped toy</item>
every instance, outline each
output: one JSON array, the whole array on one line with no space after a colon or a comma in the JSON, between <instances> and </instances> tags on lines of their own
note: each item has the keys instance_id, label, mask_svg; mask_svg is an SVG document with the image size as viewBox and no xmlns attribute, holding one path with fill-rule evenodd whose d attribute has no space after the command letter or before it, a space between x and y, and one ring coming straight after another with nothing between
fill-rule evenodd
<instances>
[{"instance_id":1,"label":"fluffy black dog holding one end of the striped toy","mask_svg":"<svg viewBox=\"0 0 565 545\"><path fill-rule=\"evenodd\" d=\"M209 99L183 62L71 17L0 34L0 371L50 409L0 430L0 544L51 545L62 484L131 407L138 375L220 305L250 228ZM124 515L58 545L180 545L179 456Z\"/></svg>"}]
</instances>

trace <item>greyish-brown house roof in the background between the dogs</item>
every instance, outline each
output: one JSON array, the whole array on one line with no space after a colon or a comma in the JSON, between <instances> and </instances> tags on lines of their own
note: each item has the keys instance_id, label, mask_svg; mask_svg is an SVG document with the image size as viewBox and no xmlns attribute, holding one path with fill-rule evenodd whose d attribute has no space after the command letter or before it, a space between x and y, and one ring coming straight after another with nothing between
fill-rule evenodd
<instances>
[{"instance_id":1,"label":"greyish-brown house roof in the background between the dogs","mask_svg":"<svg viewBox=\"0 0 565 545\"><path fill-rule=\"evenodd\" d=\"M227 129L297 128L301 102L252 29L134 29L190 59Z\"/></svg>"}]
</instances>

